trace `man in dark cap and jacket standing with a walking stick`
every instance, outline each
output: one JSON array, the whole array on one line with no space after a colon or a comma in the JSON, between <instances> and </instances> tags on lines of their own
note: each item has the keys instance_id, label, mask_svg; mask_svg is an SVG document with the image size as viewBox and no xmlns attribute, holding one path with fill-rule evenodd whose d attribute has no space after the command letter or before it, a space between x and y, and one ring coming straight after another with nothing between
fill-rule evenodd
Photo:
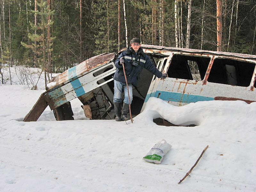
<instances>
[{"instance_id":1,"label":"man in dark cap and jacket standing with a walking stick","mask_svg":"<svg viewBox=\"0 0 256 192\"><path fill-rule=\"evenodd\" d=\"M143 68L153 73L158 78L165 78L167 75L161 73L151 62L140 48L141 41L139 38L131 40L131 47L123 51L115 61L116 72L114 74L114 110L116 121L126 121L130 119L129 115L129 98L124 77L124 70L127 78L130 102L132 103L132 84L136 84L139 80L140 73ZM122 63L124 63L124 70ZM124 104L121 114L121 102L124 90Z\"/></svg>"}]
</instances>

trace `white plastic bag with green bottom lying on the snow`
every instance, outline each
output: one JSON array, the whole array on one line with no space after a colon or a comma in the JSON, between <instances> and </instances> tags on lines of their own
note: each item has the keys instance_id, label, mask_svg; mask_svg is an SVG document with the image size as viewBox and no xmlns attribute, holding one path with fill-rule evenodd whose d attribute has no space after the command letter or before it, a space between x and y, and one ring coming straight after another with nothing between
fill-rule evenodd
<instances>
[{"instance_id":1,"label":"white plastic bag with green bottom lying on the snow","mask_svg":"<svg viewBox=\"0 0 256 192\"><path fill-rule=\"evenodd\" d=\"M171 148L172 146L163 139L162 141L157 142L156 145L151 148L148 154L143 157L143 160L159 164L164 159L164 155L168 153Z\"/></svg>"}]
</instances>

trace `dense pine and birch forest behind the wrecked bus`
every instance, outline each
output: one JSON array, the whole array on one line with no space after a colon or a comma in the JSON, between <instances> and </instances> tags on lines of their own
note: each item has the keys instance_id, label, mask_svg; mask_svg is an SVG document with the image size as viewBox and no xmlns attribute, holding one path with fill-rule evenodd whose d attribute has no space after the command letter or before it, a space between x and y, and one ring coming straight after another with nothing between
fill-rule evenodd
<instances>
[{"instance_id":1,"label":"dense pine and birch forest behind the wrecked bus","mask_svg":"<svg viewBox=\"0 0 256 192\"><path fill-rule=\"evenodd\" d=\"M49 74L117 53L133 37L255 54L255 31L255 0L0 0L0 78L12 84L4 70L38 67L46 84Z\"/></svg>"}]
</instances>

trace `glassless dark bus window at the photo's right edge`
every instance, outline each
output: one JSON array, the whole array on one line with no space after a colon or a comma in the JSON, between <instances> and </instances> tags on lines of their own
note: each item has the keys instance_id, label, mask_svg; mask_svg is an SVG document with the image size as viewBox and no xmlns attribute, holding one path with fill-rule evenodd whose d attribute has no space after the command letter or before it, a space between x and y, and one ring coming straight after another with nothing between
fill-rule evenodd
<instances>
[{"instance_id":1,"label":"glassless dark bus window at the photo's right edge","mask_svg":"<svg viewBox=\"0 0 256 192\"><path fill-rule=\"evenodd\" d=\"M216 58L208 77L208 82L248 87L252 81L255 63Z\"/></svg>"}]
</instances>

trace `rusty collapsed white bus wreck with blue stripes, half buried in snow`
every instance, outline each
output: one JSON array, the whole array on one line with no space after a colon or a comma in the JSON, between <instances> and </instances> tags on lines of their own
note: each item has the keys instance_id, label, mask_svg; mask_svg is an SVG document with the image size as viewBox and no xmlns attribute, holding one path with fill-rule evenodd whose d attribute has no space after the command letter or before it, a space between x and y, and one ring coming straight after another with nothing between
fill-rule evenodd
<instances>
[{"instance_id":1,"label":"rusty collapsed white bus wreck with blue stripes, half buried in snow","mask_svg":"<svg viewBox=\"0 0 256 192\"><path fill-rule=\"evenodd\" d=\"M140 81L133 87L132 115L138 115L150 97L175 106L208 100L256 101L255 55L145 44L141 48L168 76L159 79L142 70ZM74 119L69 101L75 98L83 104L86 117L114 119L111 110L117 56L103 53L55 76L23 121L36 121L48 105L56 120Z\"/></svg>"}]
</instances>

